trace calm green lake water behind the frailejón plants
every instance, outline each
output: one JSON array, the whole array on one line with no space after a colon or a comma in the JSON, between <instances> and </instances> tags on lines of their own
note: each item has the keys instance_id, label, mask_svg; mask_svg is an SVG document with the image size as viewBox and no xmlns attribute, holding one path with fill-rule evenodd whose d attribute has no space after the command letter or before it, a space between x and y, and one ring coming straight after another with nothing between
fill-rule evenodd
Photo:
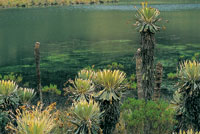
<instances>
[{"instance_id":1,"label":"calm green lake water behind the frailej\u00f3n plants","mask_svg":"<svg viewBox=\"0 0 200 134\"><path fill-rule=\"evenodd\" d=\"M200 50L200 4L154 5L167 29L156 35L156 62L165 77L178 57ZM41 43L42 85L63 83L86 66L112 62L135 72L140 35L133 6L69 6L0 10L0 73L15 72L35 85L34 43Z\"/></svg>"}]
</instances>

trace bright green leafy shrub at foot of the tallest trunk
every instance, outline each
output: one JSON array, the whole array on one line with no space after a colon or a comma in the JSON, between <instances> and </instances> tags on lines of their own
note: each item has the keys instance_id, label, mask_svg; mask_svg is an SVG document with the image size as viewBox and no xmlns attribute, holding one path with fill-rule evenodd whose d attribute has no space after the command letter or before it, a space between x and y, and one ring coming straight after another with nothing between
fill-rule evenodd
<instances>
[{"instance_id":1,"label":"bright green leafy shrub at foot of the tallest trunk","mask_svg":"<svg viewBox=\"0 0 200 134\"><path fill-rule=\"evenodd\" d=\"M122 105L122 117L127 133L144 134L147 124L150 134L171 134L174 128L174 109L165 101L128 98Z\"/></svg>"}]
</instances>

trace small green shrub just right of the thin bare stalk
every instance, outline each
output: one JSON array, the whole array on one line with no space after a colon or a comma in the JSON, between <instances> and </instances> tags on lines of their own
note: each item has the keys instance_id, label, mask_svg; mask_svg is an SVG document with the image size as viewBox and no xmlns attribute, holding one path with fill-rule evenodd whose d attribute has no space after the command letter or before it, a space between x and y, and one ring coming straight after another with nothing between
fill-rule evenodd
<instances>
[{"instance_id":1,"label":"small green shrub just right of the thin bare stalk","mask_svg":"<svg viewBox=\"0 0 200 134\"><path fill-rule=\"evenodd\" d=\"M61 95L61 90L57 88L57 85L50 84L49 86L44 86L42 92L49 92L57 95Z\"/></svg>"}]
</instances>

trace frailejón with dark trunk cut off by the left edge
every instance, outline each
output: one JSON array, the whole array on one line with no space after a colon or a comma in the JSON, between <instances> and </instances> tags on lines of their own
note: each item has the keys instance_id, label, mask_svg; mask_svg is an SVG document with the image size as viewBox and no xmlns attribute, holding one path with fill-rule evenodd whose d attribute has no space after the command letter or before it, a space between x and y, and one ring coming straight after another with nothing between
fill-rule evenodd
<instances>
[{"instance_id":1,"label":"frailej\u00f3n with dark trunk cut off by the left edge","mask_svg":"<svg viewBox=\"0 0 200 134\"><path fill-rule=\"evenodd\" d=\"M18 86L10 80L0 80L0 132L7 133L5 126L12 121L10 113L15 113L15 110L20 105L19 97L16 94Z\"/></svg>"}]
</instances>

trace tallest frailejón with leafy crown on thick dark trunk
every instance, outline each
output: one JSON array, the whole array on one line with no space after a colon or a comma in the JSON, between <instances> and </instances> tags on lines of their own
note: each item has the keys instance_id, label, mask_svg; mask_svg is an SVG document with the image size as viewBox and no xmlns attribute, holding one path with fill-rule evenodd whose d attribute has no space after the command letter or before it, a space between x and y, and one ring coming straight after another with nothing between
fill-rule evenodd
<instances>
[{"instance_id":1,"label":"tallest frailej\u00f3n with leafy crown on thick dark trunk","mask_svg":"<svg viewBox=\"0 0 200 134\"><path fill-rule=\"evenodd\" d=\"M142 8L137 9L136 26L141 35L141 83L139 90L143 92L146 100L152 99L154 90L154 48L155 33L160 27L156 26L156 22L160 12L156 8L148 7L147 3L142 3ZM141 96L141 95L140 95Z\"/></svg>"}]
</instances>

